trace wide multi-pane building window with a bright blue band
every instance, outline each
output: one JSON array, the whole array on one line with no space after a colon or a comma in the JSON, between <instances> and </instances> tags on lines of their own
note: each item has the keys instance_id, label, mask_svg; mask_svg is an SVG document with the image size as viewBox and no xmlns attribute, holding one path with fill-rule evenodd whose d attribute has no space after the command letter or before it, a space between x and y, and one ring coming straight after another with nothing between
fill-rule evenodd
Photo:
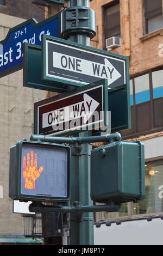
<instances>
[{"instance_id":1,"label":"wide multi-pane building window with a bright blue band","mask_svg":"<svg viewBox=\"0 0 163 256\"><path fill-rule=\"evenodd\" d=\"M121 131L123 139L163 129L163 69L130 79L131 129Z\"/></svg>"}]
</instances>

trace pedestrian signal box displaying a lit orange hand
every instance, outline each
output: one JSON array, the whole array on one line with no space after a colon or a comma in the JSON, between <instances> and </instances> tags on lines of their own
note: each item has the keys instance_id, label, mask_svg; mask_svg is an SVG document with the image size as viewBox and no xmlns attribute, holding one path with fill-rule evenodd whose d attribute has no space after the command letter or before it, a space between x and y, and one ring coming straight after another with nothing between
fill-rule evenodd
<instances>
[{"instance_id":1,"label":"pedestrian signal box displaying a lit orange hand","mask_svg":"<svg viewBox=\"0 0 163 256\"><path fill-rule=\"evenodd\" d=\"M10 148L9 197L66 203L70 199L70 147L18 141Z\"/></svg>"}]
</instances>

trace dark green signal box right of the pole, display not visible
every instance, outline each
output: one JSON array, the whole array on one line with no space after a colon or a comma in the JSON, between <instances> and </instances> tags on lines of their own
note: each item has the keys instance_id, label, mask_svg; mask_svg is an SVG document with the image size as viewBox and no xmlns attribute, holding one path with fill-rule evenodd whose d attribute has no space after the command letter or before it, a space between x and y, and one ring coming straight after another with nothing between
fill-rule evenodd
<instances>
[{"instance_id":1,"label":"dark green signal box right of the pole, display not visible","mask_svg":"<svg viewBox=\"0 0 163 256\"><path fill-rule=\"evenodd\" d=\"M144 145L113 142L91 152L91 199L98 203L139 202L145 196Z\"/></svg>"}]
</instances>

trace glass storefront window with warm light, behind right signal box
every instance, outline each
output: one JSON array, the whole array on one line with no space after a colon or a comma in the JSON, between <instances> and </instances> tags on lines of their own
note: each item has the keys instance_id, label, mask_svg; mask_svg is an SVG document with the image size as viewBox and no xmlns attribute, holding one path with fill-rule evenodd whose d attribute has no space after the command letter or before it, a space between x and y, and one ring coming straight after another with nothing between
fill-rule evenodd
<instances>
[{"instance_id":1,"label":"glass storefront window with warm light, behind right signal box","mask_svg":"<svg viewBox=\"0 0 163 256\"><path fill-rule=\"evenodd\" d=\"M163 160L145 164L145 198L139 203L123 203L120 212L98 212L97 221L130 218L131 215L160 214L163 212ZM139 216L141 217L141 216Z\"/></svg>"}]
</instances>

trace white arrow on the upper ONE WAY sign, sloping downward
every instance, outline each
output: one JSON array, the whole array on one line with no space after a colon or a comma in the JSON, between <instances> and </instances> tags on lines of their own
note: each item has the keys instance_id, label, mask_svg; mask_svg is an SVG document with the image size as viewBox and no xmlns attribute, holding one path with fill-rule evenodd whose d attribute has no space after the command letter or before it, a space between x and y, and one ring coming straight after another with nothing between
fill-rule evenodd
<instances>
[{"instance_id":1,"label":"white arrow on the upper ONE WAY sign, sloping downward","mask_svg":"<svg viewBox=\"0 0 163 256\"><path fill-rule=\"evenodd\" d=\"M122 76L107 58L104 58L104 64L101 64L58 52L53 52L53 68L73 71L101 79L108 78L108 86Z\"/></svg>"}]
</instances>

